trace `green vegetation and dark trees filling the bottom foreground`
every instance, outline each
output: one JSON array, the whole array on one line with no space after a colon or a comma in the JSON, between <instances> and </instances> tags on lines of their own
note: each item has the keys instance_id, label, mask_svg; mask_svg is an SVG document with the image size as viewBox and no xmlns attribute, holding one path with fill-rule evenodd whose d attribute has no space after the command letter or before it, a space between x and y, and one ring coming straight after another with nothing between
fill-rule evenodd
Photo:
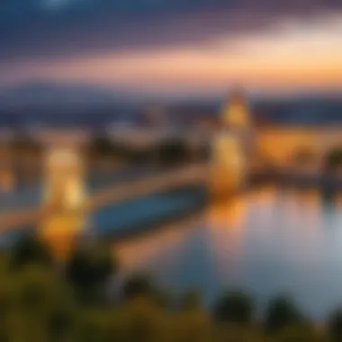
<instances>
[{"instance_id":1,"label":"green vegetation and dark trees filling the bottom foreground","mask_svg":"<svg viewBox=\"0 0 342 342\"><path fill-rule=\"evenodd\" d=\"M0 260L1 342L342 340L342 311L317 329L286 297L257 319L246 293L223 293L206 310L196 292L175 297L143 275L114 286L120 264L101 241L78 244L63 266L34 237Z\"/></svg>"}]
</instances>

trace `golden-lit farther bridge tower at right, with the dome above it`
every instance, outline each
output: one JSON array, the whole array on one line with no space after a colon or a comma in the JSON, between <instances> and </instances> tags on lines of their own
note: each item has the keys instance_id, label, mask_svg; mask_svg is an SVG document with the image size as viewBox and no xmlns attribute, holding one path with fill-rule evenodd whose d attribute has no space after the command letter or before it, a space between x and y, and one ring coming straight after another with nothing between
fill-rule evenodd
<instances>
[{"instance_id":1,"label":"golden-lit farther bridge tower at right, with the dome above it","mask_svg":"<svg viewBox=\"0 0 342 342\"><path fill-rule=\"evenodd\" d=\"M235 90L224 103L220 122L211 148L211 193L214 197L228 196L246 185L252 134L247 101L241 90Z\"/></svg>"}]
</instances>

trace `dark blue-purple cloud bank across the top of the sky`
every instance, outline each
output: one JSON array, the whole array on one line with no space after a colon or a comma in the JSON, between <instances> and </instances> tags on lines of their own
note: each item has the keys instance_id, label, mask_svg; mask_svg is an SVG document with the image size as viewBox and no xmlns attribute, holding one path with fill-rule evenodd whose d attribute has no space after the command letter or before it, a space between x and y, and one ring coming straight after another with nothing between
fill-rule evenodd
<instances>
[{"instance_id":1,"label":"dark blue-purple cloud bank across the top of the sky","mask_svg":"<svg viewBox=\"0 0 342 342\"><path fill-rule=\"evenodd\" d=\"M57 0L55 0L57 1ZM264 29L284 15L341 9L340 0L0 0L0 61L197 45Z\"/></svg>"}]
</instances>

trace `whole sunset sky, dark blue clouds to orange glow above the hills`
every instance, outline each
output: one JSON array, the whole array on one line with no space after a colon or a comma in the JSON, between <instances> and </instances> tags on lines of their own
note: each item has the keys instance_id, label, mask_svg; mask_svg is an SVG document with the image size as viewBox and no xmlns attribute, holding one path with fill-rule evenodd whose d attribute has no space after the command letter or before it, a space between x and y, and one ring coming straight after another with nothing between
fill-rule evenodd
<instances>
[{"instance_id":1,"label":"whole sunset sky, dark blue clouds to orange glow above the hills","mask_svg":"<svg viewBox=\"0 0 342 342\"><path fill-rule=\"evenodd\" d=\"M340 0L0 0L0 86L339 90Z\"/></svg>"}]
</instances>

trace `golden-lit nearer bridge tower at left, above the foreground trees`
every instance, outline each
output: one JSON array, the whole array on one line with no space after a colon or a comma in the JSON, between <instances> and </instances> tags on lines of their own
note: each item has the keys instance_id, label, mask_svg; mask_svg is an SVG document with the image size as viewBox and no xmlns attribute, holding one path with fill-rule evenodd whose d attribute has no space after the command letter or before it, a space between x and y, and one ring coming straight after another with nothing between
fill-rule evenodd
<instances>
[{"instance_id":1,"label":"golden-lit nearer bridge tower at left, above the foreground trees","mask_svg":"<svg viewBox=\"0 0 342 342\"><path fill-rule=\"evenodd\" d=\"M44 163L40 236L58 257L64 257L73 239L87 223L85 163L81 144L64 140L48 144Z\"/></svg>"}]
</instances>

